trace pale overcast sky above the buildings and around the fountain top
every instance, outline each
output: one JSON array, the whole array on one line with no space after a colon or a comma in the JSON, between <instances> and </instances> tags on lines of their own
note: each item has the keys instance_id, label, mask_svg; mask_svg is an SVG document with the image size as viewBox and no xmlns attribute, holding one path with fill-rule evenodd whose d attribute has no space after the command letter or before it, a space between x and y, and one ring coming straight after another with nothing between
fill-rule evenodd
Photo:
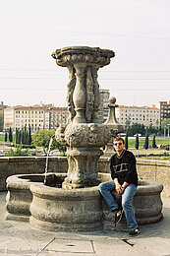
<instances>
[{"instance_id":1,"label":"pale overcast sky above the buildings and around the fountain top","mask_svg":"<svg viewBox=\"0 0 170 256\"><path fill-rule=\"evenodd\" d=\"M0 0L0 101L66 106L68 70L51 53L87 45L115 51L98 71L118 104L170 100L169 0Z\"/></svg>"}]
</instances>

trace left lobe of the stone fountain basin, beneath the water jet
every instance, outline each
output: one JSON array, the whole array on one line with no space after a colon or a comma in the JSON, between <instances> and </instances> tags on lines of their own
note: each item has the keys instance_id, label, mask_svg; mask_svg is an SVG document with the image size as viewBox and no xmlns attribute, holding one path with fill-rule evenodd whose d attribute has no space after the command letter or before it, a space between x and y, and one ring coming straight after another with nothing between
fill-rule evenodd
<instances>
[{"instance_id":1,"label":"left lobe of the stone fountain basin, beneath the water jet","mask_svg":"<svg viewBox=\"0 0 170 256\"><path fill-rule=\"evenodd\" d=\"M7 178L7 216L6 220L28 222L30 217L30 203L32 202L31 184L43 184L44 174L21 174ZM66 177L65 173L47 173L47 181L51 186L60 184Z\"/></svg>"}]
</instances>

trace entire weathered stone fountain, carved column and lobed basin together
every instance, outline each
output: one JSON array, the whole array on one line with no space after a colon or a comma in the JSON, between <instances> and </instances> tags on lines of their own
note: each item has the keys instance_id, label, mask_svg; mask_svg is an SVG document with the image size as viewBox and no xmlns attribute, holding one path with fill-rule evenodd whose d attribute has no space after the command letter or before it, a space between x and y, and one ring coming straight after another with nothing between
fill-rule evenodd
<instances>
[{"instance_id":1,"label":"entire weathered stone fountain, carved column and lobed basin together","mask_svg":"<svg viewBox=\"0 0 170 256\"><path fill-rule=\"evenodd\" d=\"M111 138L109 121L108 126L98 122L97 71L108 65L114 55L111 50L86 46L64 47L52 53L57 65L68 68L70 77L67 85L69 122L61 125L55 134L56 140L67 147L68 173L10 176L6 220L26 221L51 231L112 228L113 216L110 217L102 203L97 187L100 181L110 178L109 174L98 174L97 162L103 154L101 148ZM110 107L111 104L115 106L115 100L110 102ZM118 124L114 125L113 130L119 130ZM141 181L139 191L135 200L139 224L160 221L162 185ZM141 201L147 191L149 200L143 205ZM151 216L148 209L152 209Z\"/></svg>"}]
</instances>

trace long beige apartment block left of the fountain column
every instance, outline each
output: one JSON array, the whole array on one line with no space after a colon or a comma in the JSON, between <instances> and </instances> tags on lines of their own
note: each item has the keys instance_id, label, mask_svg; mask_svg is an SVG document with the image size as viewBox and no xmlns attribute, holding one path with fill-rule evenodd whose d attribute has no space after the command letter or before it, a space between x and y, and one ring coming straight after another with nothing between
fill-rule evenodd
<instances>
[{"instance_id":1,"label":"long beige apartment block left of the fountain column","mask_svg":"<svg viewBox=\"0 0 170 256\"><path fill-rule=\"evenodd\" d=\"M52 104L32 106L9 106L4 109L4 130L10 127L22 129L29 126L31 131L38 129L56 129L66 123L69 111L66 107L54 107Z\"/></svg>"}]
</instances>

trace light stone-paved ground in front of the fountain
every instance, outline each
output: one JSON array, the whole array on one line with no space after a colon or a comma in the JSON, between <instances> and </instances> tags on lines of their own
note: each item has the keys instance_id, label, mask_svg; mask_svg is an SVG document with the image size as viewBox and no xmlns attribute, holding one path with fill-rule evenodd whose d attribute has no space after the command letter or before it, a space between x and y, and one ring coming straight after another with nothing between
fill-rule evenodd
<instances>
[{"instance_id":1,"label":"light stone-paved ground in front of the fountain","mask_svg":"<svg viewBox=\"0 0 170 256\"><path fill-rule=\"evenodd\" d=\"M127 232L49 232L26 223L4 221L5 192L0 192L0 255L24 256L170 256L170 199L163 199L164 220Z\"/></svg>"}]
</instances>

